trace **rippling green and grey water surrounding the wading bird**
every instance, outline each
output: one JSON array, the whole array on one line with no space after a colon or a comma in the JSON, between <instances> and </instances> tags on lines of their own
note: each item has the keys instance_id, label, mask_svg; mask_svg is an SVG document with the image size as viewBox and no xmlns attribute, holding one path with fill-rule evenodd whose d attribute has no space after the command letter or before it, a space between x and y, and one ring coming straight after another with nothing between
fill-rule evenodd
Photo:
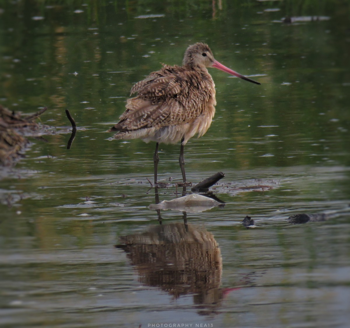
<instances>
[{"instance_id":1,"label":"rippling green and grey water surrounding the wading bird","mask_svg":"<svg viewBox=\"0 0 350 328\"><path fill-rule=\"evenodd\" d=\"M221 252L211 305L200 284L179 297L150 286L140 263L113 247L158 224L147 208L154 144L110 142L105 132L135 82L161 63L180 65L197 41L261 83L211 69L216 115L185 148L190 180L226 173L216 190L226 206L187 216ZM47 106L42 123L61 132L1 168L0 325L345 327L349 53L348 1L0 1L0 103ZM70 150L65 109L79 127ZM179 149L161 145L160 179L181 180ZM274 188L244 191L252 181ZM174 192L161 189L160 199ZM338 216L286 222L302 212ZM240 224L246 215L258 228ZM162 218L183 222L176 211Z\"/></svg>"}]
</instances>

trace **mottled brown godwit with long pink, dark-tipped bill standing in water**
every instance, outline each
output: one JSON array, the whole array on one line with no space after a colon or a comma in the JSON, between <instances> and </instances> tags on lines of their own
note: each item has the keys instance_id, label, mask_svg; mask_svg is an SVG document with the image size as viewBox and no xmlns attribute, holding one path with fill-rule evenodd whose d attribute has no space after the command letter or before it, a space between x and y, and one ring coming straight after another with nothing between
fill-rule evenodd
<instances>
[{"instance_id":1,"label":"mottled brown godwit with long pink, dark-tipped bill standing in water","mask_svg":"<svg viewBox=\"0 0 350 328\"><path fill-rule=\"evenodd\" d=\"M131 93L137 96L126 102L120 121L110 129L117 131L115 139L141 138L155 141L154 183L157 183L158 146L181 140L179 163L183 182L186 183L184 145L198 134L204 135L215 113L215 84L207 67L215 67L246 81L253 81L215 60L207 44L190 45L182 66L164 65L144 80L136 83Z\"/></svg>"}]
</instances>

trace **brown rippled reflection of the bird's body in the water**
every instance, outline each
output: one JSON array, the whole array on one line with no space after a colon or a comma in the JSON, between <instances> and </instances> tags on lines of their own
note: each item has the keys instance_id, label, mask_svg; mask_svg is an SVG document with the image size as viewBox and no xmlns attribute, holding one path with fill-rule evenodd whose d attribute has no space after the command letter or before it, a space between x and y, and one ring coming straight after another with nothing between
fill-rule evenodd
<instances>
[{"instance_id":1,"label":"brown rippled reflection of the bird's body in the water","mask_svg":"<svg viewBox=\"0 0 350 328\"><path fill-rule=\"evenodd\" d=\"M222 257L214 236L195 224L176 222L151 226L141 234L120 237L139 281L174 298L194 294L201 313L215 313L228 292L219 288Z\"/></svg>"}]
</instances>

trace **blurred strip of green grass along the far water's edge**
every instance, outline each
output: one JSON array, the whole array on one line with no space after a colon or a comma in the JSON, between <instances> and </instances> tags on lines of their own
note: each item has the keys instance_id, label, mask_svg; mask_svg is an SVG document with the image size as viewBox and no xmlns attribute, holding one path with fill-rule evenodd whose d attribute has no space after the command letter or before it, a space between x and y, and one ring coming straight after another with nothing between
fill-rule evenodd
<instances>
[{"instance_id":1,"label":"blurred strip of green grass along the far water's edge","mask_svg":"<svg viewBox=\"0 0 350 328\"><path fill-rule=\"evenodd\" d=\"M167 13L170 15L202 15L211 13L216 17L216 13L225 14L237 8L265 9L269 7L280 8L287 16L295 15L324 15L339 9L339 12L348 14L349 1L347 0L283 0L283 1L256 1L256 0L135 0L135 1L96 1L96 0L24 0L15 3L19 10L36 10L37 13L44 13L45 9L51 7L60 7L69 9L68 17L73 18L74 10L77 8L85 9L90 20L102 20L106 18L106 11L112 10L114 13L120 13L124 10L129 18L133 15L147 13ZM0 0L2 8L11 8L14 3Z\"/></svg>"}]
</instances>

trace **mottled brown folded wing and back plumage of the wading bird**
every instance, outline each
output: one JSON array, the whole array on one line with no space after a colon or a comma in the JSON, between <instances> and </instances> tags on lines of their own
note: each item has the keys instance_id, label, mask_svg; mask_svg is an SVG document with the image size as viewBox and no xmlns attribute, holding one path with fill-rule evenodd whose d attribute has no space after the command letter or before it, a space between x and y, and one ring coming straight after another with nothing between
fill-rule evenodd
<instances>
[{"instance_id":1,"label":"mottled brown folded wing and back plumage of the wading bird","mask_svg":"<svg viewBox=\"0 0 350 328\"><path fill-rule=\"evenodd\" d=\"M190 122L203 113L211 89L200 78L184 79L176 73L181 67L165 66L136 83L127 100L126 111L113 130L164 127ZM214 91L215 92L215 91Z\"/></svg>"}]
</instances>

